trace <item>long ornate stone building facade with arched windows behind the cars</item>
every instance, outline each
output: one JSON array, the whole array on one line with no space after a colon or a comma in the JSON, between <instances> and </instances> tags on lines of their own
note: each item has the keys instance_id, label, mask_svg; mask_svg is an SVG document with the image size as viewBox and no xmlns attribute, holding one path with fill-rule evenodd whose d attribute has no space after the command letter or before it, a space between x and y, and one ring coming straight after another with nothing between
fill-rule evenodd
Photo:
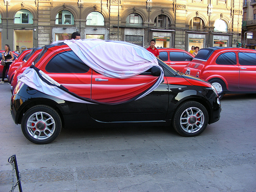
<instances>
[{"instance_id":1,"label":"long ornate stone building facade with arched windows behind the cars","mask_svg":"<svg viewBox=\"0 0 256 192\"><path fill-rule=\"evenodd\" d=\"M242 0L4 0L1 47L41 47L79 32L81 38L123 40L147 48L189 51L241 42Z\"/></svg>"}]
</instances>

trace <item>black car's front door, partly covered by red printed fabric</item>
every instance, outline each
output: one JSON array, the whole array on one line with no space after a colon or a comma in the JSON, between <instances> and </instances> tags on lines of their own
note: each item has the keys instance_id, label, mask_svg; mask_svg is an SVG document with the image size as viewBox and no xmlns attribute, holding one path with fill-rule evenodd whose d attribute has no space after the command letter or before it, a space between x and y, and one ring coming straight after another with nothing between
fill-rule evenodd
<instances>
[{"instance_id":1,"label":"black car's front door, partly covered by red printed fabric","mask_svg":"<svg viewBox=\"0 0 256 192\"><path fill-rule=\"evenodd\" d=\"M127 79L104 77L92 74L92 99L109 104L88 104L92 118L98 121L152 121L164 120L168 109L168 84L166 79L150 94L131 102L113 104L135 97L143 84L155 82L156 77L140 74ZM153 83L154 84L154 83ZM139 92L138 92L139 91Z\"/></svg>"}]
</instances>

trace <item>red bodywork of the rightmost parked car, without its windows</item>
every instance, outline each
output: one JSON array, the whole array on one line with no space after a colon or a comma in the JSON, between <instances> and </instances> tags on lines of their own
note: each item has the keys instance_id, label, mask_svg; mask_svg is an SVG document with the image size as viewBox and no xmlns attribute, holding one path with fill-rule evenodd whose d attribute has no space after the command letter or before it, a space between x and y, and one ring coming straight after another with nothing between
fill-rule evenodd
<instances>
[{"instance_id":1,"label":"red bodywork of the rightmost parked car, without its windows","mask_svg":"<svg viewBox=\"0 0 256 192\"><path fill-rule=\"evenodd\" d=\"M202 50L202 49L201 49ZM200 51L201 51L200 50ZM236 54L234 63L218 64L217 59L227 53ZM256 92L256 61L254 65L240 64L241 53L255 55L256 51L242 48L224 48L215 50L207 60L197 56L183 69L183 73L199 77L209 82L219 79L225 83L224 93Z\"/></svg>"}]
</instances>

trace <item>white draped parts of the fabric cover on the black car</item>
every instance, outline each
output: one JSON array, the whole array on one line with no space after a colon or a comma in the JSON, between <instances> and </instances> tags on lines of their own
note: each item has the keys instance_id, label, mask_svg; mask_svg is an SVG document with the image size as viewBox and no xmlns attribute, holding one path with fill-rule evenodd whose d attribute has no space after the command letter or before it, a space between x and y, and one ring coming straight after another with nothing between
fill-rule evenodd
<instances>
[{"instance_id":1,"label":"white draped parts of the fabric cover on the black car","mask_svg":"<svg viewBox=\"0 0 256 192\"><path fill-rule=\"evenodd\" d=\"M104 76L129 78L141 74L154 66L159 68L161 75L158 77L157 82L154 86L137 97L136 100L151 93L163 80L164 73L162 68L158 65L156 57L140 46L124 41L104 41L100 39L72 39L65 40L65 44L67 44L87 66ZM42 78L50 82L50 84L44 82ZM60 89L61 85L58 82L54 81L47 74L41 72L38 74L33 68L27 68L23 74L18 76L18 80L37 91L59 99L82 103L99 103L90 100L90 98L84 100L76 97L74 94L63 91Z\"/></svg>"}]
</instances>

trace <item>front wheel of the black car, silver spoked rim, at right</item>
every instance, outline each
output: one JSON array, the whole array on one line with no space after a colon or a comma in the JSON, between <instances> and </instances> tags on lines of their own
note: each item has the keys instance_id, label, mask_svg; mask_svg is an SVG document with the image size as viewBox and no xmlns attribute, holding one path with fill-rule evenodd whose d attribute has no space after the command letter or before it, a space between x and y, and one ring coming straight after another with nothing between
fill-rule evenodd
<instances>
[{"instance_id":1,"label":"front wheel of the black car, silver spoked rim, at right","mask_svg":"<svg viewBox=\"0 0 256 192\"><path fill-rule=\"evenodd\" d=\"M208 112L196 101L187 101L179 106L173 118L173 127L177 133L185 137L198 136L208 124Z\"/></svg>"}]
</instances>

